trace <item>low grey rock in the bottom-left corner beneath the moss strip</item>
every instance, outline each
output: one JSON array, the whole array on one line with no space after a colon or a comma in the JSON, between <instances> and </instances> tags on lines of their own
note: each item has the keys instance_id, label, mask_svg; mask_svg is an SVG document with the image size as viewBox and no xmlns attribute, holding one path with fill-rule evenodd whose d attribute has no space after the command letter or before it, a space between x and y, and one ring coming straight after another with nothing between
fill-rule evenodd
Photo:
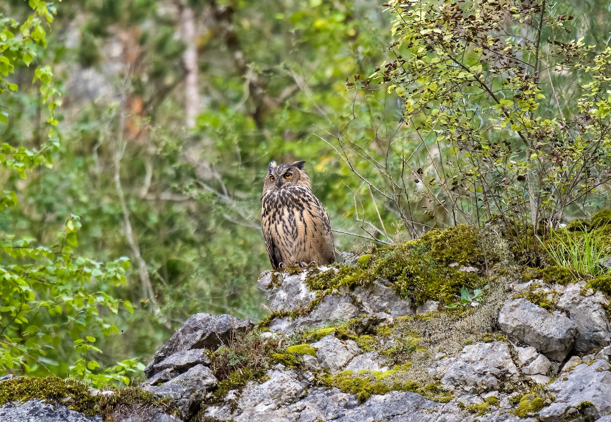
<instances>
[{"instance_id":1,"label":"low grey rock in the bottom-left corner beneath the moss strip","mask_svg":"<svg viewBox=\"0 0 611 422\"><path fill-rule=\"evenodd\" d=\"M0 407L2 422L102 422L100 416L86 417L62 404L47 404L44 400L7 403Z\"/></svg>"}]
</instances>

